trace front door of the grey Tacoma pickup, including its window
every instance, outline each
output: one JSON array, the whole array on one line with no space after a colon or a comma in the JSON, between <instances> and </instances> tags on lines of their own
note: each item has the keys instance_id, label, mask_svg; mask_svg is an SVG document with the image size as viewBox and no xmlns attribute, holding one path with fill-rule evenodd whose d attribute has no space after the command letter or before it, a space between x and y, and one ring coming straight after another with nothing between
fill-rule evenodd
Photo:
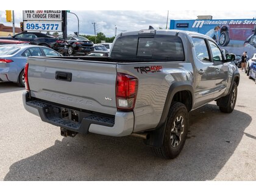
<instances>
[{"instance_id":1,"label":"front door of the grey Tacoma pickup, including its window","mask_svg":"<svg viewBox=\"0 0 256 192\"><path fill-rule=\"evenodd\" d=\"M228 66L225 65L225 59L222 56L221 49L219 49L218 45L213 42L208 40L209 43L209 48L211 52L211 57L212 57L212 62L215 67L215 94L214 98L218 98L221 96L226 91L227 88L227 71L228 71Z\"/></svg>"}]
</instances>

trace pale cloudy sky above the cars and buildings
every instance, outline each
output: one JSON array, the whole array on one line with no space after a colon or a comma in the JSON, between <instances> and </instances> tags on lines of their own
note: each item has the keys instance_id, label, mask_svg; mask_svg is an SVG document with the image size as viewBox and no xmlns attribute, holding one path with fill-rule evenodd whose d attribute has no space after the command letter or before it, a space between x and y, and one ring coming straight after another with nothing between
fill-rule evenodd
<instances>
[{"instance_id":1,"label":"pale cloudy sky above the cars and buildings","mask_svg":"<svg viewBox=\"0 0 256 192\"><path fill-rule=\"evenodd\" d=\"M172 8L166 5L164 8ZM197 15L212 15L213 19L251 19L256 17L256 11L246 10L241 12L233 11L216 11L216 10L169 10L169 20L195 20ZM140 30L148 29L149 25L158 28L166 27L167 10L71 10L79 17L80 34L94 34L94 27L91 23L96 24L96 32L103 32L107 37L115 35L115 25L117 32L123 30ZM12 26L12 23L5 22L5 11L0 11L0 23ZM22 11L15 10L15 26L20 26L23 20ZM77 18L68 13L68 34L77 31Z\"/></svg>"}]
</instances>

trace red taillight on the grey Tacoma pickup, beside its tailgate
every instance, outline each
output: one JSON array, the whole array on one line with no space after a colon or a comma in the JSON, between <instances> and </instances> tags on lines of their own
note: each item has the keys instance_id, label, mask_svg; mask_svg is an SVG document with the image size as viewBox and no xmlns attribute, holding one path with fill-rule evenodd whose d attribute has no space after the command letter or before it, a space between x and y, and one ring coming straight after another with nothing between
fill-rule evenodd
<instances>
[{"instance_id":1,"label":"red taillight on the grey Tacoma pickup, beside its tailgate","mask_svg":"<svg viewBox=\"0 0 256 192\"><path fill-rule=\"evenodd\" d=\"M117 73L116 107L118 111L133 110L138 91L138 79L128 74Z\"/></svg>"}]
</instances>

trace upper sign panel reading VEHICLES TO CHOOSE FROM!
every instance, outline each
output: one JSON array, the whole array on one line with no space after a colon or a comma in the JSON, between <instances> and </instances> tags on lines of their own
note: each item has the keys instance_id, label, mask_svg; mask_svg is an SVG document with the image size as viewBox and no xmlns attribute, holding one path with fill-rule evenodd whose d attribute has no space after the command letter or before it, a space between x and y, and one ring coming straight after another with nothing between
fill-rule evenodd
<instances>
[{"instance_id":1,"label":"upper sign panel reading VEHICLES TO CHOOSE FROM!","mask_svg":"<svg viewBox=\"0 0 256 192\"><path fill-rule=\"evenodd\" d=\"M23 21L62 21L61 10L24 10Z\"/></svg>"}]
</instances>

